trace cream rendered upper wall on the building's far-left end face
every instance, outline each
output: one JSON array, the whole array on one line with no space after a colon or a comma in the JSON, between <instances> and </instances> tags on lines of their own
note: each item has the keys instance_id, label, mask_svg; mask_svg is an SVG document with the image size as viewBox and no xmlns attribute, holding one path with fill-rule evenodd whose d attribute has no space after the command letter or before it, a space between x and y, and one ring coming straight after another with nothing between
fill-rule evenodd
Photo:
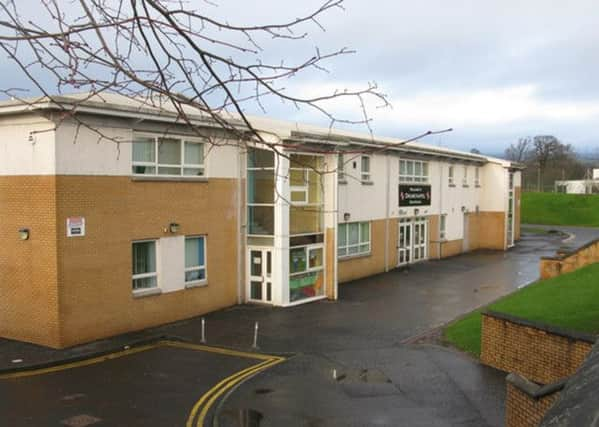
<instances>
[{"instance_id":1,"label":"cream rendered upper wall on the building's far-left end face","mask_svg":"<svg viewBox=\"0 0 599 427\"><path fill-rule=\"evenodd\" d=\"M53 129L54 123L34 115L0 119L0 175L53 175Z\"/></svg>"}]
</instances>

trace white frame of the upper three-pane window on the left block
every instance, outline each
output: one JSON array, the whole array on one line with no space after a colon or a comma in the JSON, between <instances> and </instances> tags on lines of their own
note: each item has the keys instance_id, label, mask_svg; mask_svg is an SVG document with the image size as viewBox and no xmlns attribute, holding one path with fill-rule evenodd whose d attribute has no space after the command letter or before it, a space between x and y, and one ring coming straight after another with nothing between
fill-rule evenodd
<instances>
[{"instance_id":1,"label":"white frame of the upper three-pane window on the left block","mask_svg":"<svg viewBox=\"0 0 599 427\"><path fill-rule=\"evenodd\" d=\"M133 159L133 145L135 144L136 138L147 138L154 140L154 161L153 162L139 162ZM160 139L175 139L180 141L180 150L181 150L181 164L168 164L168 163L158 163L158 145ZM185 144L201 144L203 145L203 155L201 164L196 163L186 163L185 162ZM133 168L135 166L146 166L153 167L154 173L135 173ZM160 174L158 172L159 168L179 168L179 174ZM201 175L185 175L185 169L200 169L202 171ZM172 178L178 177L182 179L197 179L197 178L206 178L206 143L204 141L195 139L195 138L187 138L182 136L175 135L149 135L149 134L135 134L133 138L133 144L131 144L131 174L134 176L156 176L156 177L165 177Z\"/></svg>"}]
</instances>

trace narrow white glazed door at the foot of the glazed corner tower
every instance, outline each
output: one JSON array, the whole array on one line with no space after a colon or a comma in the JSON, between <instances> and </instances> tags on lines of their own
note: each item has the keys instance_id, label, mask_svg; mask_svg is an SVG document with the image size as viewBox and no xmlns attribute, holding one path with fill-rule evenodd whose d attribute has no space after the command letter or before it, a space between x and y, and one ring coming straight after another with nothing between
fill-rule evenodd
<instances>
[{"instance_id":1,"label":"narrow white glazed door at the foot of the glazed corner tower","mask_svg":"<svg viewBox=\"0 0 599 427\"><path fill-rule=\"evenodd\" d=\"M272 249L248 248L248 300L272 303Z\"/></svg>"}]
</instances>

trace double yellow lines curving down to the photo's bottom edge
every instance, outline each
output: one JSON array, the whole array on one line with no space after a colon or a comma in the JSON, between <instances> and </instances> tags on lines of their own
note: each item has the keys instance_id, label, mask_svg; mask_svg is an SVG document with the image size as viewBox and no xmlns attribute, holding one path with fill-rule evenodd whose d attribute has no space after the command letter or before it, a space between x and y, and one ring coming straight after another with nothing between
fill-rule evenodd
<instances>
[{"instance_id":1,"label":"double yellow lines curving down to the photo's bottom edge","mask_svg":"<svg viewBox=\"0 0 599 427\"><path fill-rule=\"evenodd\" d=\"M254 353L245 353L245 355L241 357L250 357L254 359L265 360L258 363L257 365L250 366L249 368L245 368L239 372L236 372L233 375L228 376L227 378L223 379L218 384L216 384L214 387L212 387L210 390L208 390L208 392L206 392L191 409L189 417L187 418L186 427L193 427L194 419L196 418L196 416L198 416L198 418L197 423L195 423L195 425L197 427L204 427L206 415L208 414L208 411L210 411L212 405L214 405L214 402L219 397L221 397L227 391L231 390L236 385L241 384L246 379L252 377L253 375L257 375L258 373L285 361L284 357L264 356Z\"/></svg>"}]
</instances>

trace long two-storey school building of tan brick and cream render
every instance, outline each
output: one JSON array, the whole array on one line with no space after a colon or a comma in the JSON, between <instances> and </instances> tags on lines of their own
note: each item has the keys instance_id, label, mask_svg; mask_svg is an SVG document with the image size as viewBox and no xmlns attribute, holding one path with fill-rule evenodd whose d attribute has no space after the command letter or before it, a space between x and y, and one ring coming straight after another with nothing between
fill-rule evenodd
<instances>
[{"instance_id":1,"label":"long two-storey school building of tan brick and cream render","mask_svg":"<svg viewBox=\"0 0 599 427\"><path fill-rule=\"evenodd\" d=\"M250 146L187 117L201 134L116 94L0 103L0 336L62 348L337 299L519 238L518 164L264 118Z\"/></svg>"}]
</instances>

